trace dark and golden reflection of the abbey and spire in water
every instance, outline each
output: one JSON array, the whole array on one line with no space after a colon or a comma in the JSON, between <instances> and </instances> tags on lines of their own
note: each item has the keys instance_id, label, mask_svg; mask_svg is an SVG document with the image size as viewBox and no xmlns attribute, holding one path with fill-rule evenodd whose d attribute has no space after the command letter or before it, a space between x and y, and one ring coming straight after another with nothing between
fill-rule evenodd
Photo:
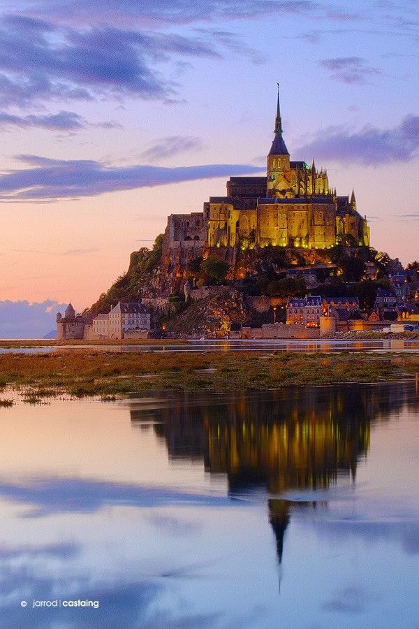
<instances>
[{"instance_id":1,"label":"dark and golden reflection of the abbey and spire in water","mask_svg":"<svg viewBox=\"0 0 419 629\"><path fill-rule=\"evenodd\" d=\"M232 493L263 486L270 493L327 489L339 474L355 477L369 449L372 421L388 417L411 400L406 384L284 389L226 396L168 394L131 421L159 421L154 431L170 458L205 461L205 469L228 477ZM170 396L170 397L168 397ZM293 509L319 503L268 500L269 521L281 561Z\"/></svg>"}]
</instances>

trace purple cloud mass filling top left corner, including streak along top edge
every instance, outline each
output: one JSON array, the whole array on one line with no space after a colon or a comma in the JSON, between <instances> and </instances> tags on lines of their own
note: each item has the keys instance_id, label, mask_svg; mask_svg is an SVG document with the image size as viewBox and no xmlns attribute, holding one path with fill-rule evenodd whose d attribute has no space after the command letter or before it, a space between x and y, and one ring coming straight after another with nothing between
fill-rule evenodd
<instances>
[{"instance_id":1,"label":"purple cloud mass filling top left corner, including streak along top edge","mask_svg":"<svg viewBox=\"0 0 419 629\"><path fill-rule=\"evenodd\" d=\"M125 96L178 102L179 86L167 68L161 71L163 62L174 69L188 57L233 53L257 64L265 57L228 31L184 35L159 31L162 26L320 8L313 0L32 0L0 20L0 106Z\"/></svg>"}]
</instances>

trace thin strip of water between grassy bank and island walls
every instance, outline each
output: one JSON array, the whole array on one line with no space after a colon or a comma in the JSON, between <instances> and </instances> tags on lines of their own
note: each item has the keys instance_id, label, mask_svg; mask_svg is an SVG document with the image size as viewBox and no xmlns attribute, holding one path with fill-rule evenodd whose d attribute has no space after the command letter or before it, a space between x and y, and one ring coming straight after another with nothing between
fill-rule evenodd
<instances>
[{"instance_id":1,"label":"thin strip of water between grassy bank and island walls","mask_svg":"<svg viewBox=\"0 0 419 629\"><path fill-rule=\"evenodd\" d=\"M360 335L361 336L361 335ZM1 342L1 340L0 340ZM272 340L189 340L158 345L45 345L42 347L0 347L0 354L45 354L61 350L89 349L102 352L419 352L419 339L272 339Z\"/></svg>"}]
</instances>

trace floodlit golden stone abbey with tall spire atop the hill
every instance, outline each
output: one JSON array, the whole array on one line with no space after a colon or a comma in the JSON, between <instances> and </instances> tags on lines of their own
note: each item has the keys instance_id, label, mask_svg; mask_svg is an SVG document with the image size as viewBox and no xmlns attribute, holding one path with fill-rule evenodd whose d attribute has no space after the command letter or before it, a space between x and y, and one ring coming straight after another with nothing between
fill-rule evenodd
<instances>
[{"instance_id":1,"label":"floodlit golden stone abbey with tall spire atop the hill","mask_svg":"<svg viewBox=\"0 0 419 629\"><path fill-rule=\"evenodd\" d=\"M181 249L182 261L205 247L274 245L324 250L335 245L369 246L366 218L355 194L337 196L327 171L291 161L283 138L279 94L274 140L266 177L231 177L226 196L212 196L203 213L171 215L166 247Z\"/></svg>"}]
</instances>

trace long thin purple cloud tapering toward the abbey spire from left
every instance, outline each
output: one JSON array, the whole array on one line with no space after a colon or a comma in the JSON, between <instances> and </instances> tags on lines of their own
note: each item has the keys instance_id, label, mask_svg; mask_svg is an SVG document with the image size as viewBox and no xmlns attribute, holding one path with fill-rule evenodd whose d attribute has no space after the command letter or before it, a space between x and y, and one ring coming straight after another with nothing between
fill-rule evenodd
<instances>
[{"instance_id":1,"label":"long thin purple cloud tapering toward the abbey spire from left","mask_svg":"<svg viewBox=\"0 0 419 629\"><path fill-rule=\"evenodd\" d=\"M34 155L23 155L18 159L30 167L6 171L0 175L0 199L3 201L96 196L103 192L246 175L265 170L249 164L209 164L177 168L144 165L114 167L83 159L59 160Z\"/></svg>"}]
</instances>

